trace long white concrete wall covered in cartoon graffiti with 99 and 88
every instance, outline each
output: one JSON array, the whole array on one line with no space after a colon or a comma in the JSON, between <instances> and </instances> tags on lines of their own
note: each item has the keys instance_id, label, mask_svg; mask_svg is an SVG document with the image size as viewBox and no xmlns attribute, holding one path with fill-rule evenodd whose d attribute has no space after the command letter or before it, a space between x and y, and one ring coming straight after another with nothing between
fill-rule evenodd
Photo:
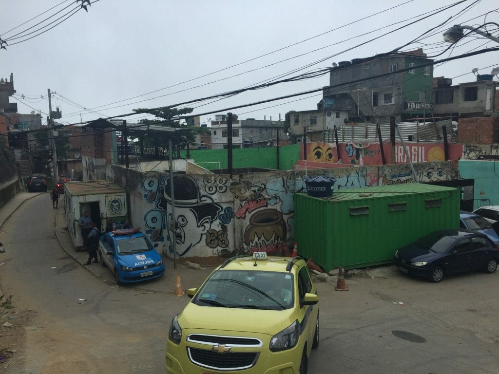
<instances>
[{"instance_id":1,"label":"long white concrete wall covered in cartoon graffiti with 99 and 88","mask_svg":"<svg viewBox=\"0 0 499 374\"><path fill-rule=\"evenodd\" d=\"M422 181L459 177L456 163L433 162L415 166ZM176 175L173 217L170 177L167 173L139 173L112 165L114 181L129 191L130 216L159 250L173 256L173 238L179 257L204 264L220 263L235 254L265 251L288 253L294 238L296 191L305 190L305 178L327 175L335 188L411 183L407 164L292 172L228 175Z\"/></svg>"}]
</instances>

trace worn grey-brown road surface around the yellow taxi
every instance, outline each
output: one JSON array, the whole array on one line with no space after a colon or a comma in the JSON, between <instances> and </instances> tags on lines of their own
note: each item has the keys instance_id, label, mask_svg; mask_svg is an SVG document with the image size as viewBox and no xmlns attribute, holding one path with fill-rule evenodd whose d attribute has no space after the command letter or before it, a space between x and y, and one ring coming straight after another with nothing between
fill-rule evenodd
<instances>
[{"instance_id":1,"label":"worn grey-brown road surface around the yellow taxi","mask_svg":"<svg viewBox=\"0 0 499 374\"><path fill-rule=\"evenodd\" d=\"M0 285L32 314L26 343L0 373L165 373L170 321L189 299L166 280L118 287L89 272L53 238L54 217L42 194L2 227ZM432 284L389 266L346 278L348 292L318 283L309 373L499 373L498 281L473 273Z\"/></svg>"}]
</instances>

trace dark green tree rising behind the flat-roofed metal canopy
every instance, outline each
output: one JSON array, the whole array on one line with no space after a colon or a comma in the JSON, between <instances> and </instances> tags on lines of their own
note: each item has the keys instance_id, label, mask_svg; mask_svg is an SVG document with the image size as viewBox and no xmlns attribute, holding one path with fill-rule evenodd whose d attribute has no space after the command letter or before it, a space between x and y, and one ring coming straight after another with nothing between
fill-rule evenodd
<instances>
[{"instance_id":1,"label":"dark green tree rising behind the flat-roofed metal canopy","mask_svg":"<svg viewBox=\"0 0 499 374\"><path fill-rule=\"evenodd\" d=\"M155 134L153 137L144 138L145 147L166 147L168 146L168 141L171 139L174 144L178 144L180 148L186 148L187 143L195 143L196 134L208 132L207 129L202 127L195 127L192 125L187 125L181 123L179 120L174 120L174 117L189 114L194 110L194 108L160 108L160 109L146 109L139 108L134 109L136 113L149 113L155 116L157 119L141 120L144 124L154 124L164 127L174 127L177 129L185 129L185 131L178 131L175 133L160 133ZM132 130L133 131L133 130Z\"/></svg>"}]
</instances>

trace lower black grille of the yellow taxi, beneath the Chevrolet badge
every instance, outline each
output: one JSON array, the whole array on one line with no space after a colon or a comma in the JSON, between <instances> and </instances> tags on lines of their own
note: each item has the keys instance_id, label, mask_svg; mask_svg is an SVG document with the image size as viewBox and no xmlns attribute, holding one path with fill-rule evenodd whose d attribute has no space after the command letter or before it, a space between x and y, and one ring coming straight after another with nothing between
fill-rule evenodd
<instances>
[{"instance_id":1,"label":"lower black grille of the yellow taxi, beneath the Chevrolet badge","mask_svg":"<svg viewBox=\"0 0 499 374\"><path fill-rule=\"evenodd\" d=\"M189 359L193 364L215 370L244 370L256 363L256 352L218 353L212 350L188 348Z\"/></svg>"}]
</instances>

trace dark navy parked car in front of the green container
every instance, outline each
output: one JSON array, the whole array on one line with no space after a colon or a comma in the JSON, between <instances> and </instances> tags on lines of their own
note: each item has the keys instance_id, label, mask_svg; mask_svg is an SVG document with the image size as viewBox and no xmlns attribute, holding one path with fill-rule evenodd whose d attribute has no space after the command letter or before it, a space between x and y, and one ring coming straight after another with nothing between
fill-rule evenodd
<instances>
[{"instance_id":1,"label":"dark navy parked car in front of the green container","mask_svg":"<svg viewBox=\"0 0 499 374\"><path fill-rule=\"evenodd\" d=\"M431 282L466 271L494 273L498 262L499 249L487 235L465 229L434 231L395 252L400 271Z\"/></svg>"}]
</instances>

